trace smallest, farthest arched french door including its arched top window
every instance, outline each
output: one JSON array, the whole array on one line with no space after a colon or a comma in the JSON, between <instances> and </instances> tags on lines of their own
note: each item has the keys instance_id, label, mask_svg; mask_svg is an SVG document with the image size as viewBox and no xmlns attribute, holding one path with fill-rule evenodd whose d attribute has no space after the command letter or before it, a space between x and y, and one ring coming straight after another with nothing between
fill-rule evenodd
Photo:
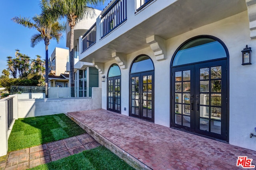
<instances>
[{"instance_id":1,"label":"smallest, farthest arched french door including its arched top window","mask_svg":"<svg viewBox=\"0 0 256 170\"><path fill-rule=\"evenodd\" d=\"M112 64L108 70L107 109L121 113L121 71L117 64Z\"/></svg>"}]
</instances>

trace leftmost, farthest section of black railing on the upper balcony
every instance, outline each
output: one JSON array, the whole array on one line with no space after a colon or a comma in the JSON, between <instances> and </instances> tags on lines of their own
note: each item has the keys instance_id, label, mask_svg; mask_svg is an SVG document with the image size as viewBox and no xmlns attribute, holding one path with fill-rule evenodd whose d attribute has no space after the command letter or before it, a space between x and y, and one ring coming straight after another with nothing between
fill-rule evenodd
<instances>
[{"instance_id":1,"label":"leftmost, farthest section of black railing on the upper balcony","mask_svg":"<svg viewBox=\"0 0 256 170\"><path fill-rule=\"evenodd\" d=\"M88 29L88 31L84 34L82 37L83 41L83 51L86 51L88 48L90 48L92 45L96 43L96 23Z\"/></svg>"}]
</instances>

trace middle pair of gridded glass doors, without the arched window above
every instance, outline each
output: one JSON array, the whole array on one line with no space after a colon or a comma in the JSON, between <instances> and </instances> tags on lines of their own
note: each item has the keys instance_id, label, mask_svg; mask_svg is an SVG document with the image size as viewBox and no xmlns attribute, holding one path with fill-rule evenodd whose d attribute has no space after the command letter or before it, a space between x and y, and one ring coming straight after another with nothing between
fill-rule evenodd
<instances>
[{"instance_id":1,"label":"middle pair of gridded glass doors, without the arched window above","mask_svg":"<svg viewBox=\"0 0 256 170\"><path fill-rule=\"evenodd\" d=\"M130 116L154 122L154 72L130 75Z\"/></svg>"}]
</instances>

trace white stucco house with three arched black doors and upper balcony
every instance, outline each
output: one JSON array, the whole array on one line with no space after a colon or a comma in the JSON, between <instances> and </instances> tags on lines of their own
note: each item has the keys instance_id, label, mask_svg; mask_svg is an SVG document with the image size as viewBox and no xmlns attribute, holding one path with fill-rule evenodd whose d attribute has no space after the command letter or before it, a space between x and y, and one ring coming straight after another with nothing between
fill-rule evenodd
<instances>
[{"instance_id":1,"label":"white stucco house with three arched black doors and upper balcony","mask_svg":"<svg viewBox=\"0 0 256 170\"><path fill-rule=\"evenodd\" d=\"M103 109L256 150L255 11L256 0L113 0L77 41L79 61L106 77Z\"/></svg>"}]
</instances>

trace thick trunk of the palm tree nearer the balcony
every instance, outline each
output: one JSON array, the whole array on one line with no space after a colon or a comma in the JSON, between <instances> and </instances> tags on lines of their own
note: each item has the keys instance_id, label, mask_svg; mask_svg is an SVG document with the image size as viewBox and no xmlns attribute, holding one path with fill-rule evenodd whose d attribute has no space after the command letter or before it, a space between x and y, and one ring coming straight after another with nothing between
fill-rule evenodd
<instances>
[{"instance_id":1,"label":"thick trunk of the palm tree nearer the balcony","mask_svg":"<svg viewBox=\"0 0 256 170\"><path fill-rule=\"evenodd\" d=\"M75 79L74 79L74 25L70 25L70 46L69 46L69 62L70 62L70 91L71 97L75 97Z\"/></svg>"}]
</instances>

